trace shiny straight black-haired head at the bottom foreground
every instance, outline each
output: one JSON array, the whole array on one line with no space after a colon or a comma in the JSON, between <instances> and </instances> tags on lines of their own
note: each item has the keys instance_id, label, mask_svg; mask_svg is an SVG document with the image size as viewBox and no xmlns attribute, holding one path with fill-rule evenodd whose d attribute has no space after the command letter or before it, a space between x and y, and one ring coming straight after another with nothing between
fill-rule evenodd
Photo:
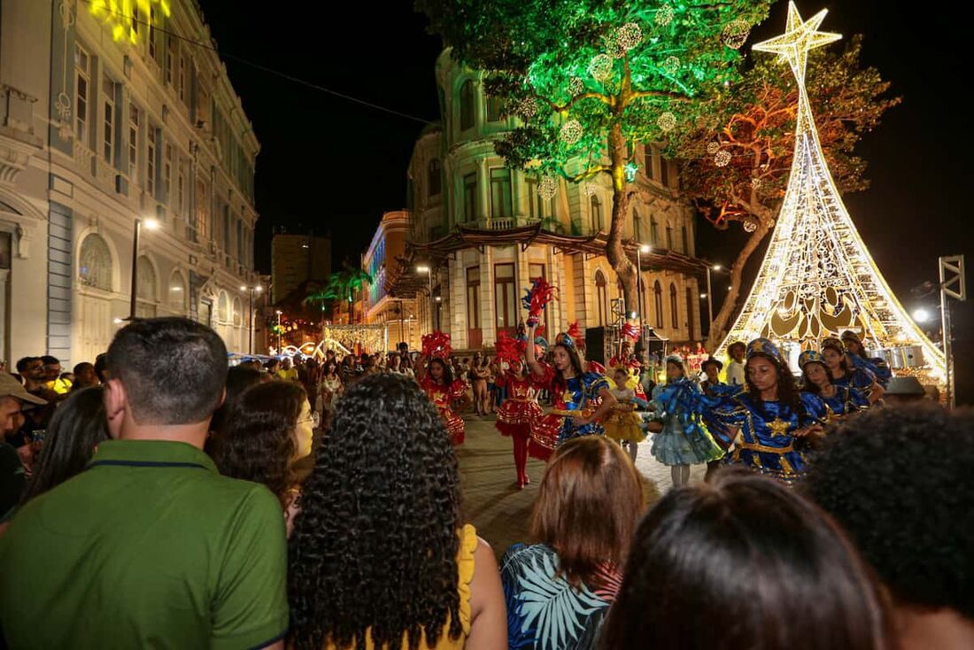
<instances>
[{"instance_id":1,"label":"shiny straight black-haired head at the bottom foreground","mask_svg":"<svg viewBox=\"0 0 974 650\"><path fill-rule=\"evenodd\" d=\"M770 478L725 471L671 490L643 518L603 647L888 648L870 576L821 510Z\"/></svg>"}]
</instances>

